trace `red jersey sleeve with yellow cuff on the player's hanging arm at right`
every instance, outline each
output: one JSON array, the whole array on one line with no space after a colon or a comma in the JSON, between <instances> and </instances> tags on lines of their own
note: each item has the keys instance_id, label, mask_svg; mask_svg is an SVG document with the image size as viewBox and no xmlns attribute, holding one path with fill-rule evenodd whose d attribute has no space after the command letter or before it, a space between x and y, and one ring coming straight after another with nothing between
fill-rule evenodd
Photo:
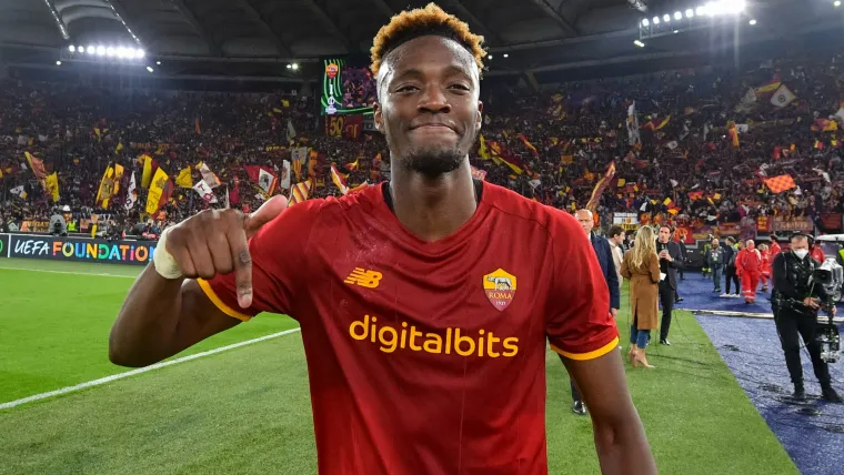
<instances>
[{"instance_id":1,"label":"red jersey sleeve with yellow cuff on the player's hanging arm at right","mask_svg":"<svg viewBox=\"0 0 844 475\"><path fill-rule=\"evenodd\" d=\"M619 345L610 291L589 239L574 216L555 212L551 224L553 275L545 332L571 360L593 360Z\"/></svg>"}]
</instances>

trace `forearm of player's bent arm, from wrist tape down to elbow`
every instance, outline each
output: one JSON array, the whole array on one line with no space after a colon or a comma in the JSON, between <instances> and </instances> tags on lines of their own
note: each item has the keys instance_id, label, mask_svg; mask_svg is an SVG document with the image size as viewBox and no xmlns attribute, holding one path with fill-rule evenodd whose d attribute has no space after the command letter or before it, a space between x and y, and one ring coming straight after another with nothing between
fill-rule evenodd
<instances>
[{"instance_id":1,"label":"forearm of player's bent arm, from wrist tape down to elbow","mask_svg":"<svg viewBox=\"0 0 844 475\"><path fill-rule=\"evenodd\" d=\"M168 280L148 265L129 290L109 336L109 358L145 366L172 354L183 280Z\"/></svg>"}]
</instances>

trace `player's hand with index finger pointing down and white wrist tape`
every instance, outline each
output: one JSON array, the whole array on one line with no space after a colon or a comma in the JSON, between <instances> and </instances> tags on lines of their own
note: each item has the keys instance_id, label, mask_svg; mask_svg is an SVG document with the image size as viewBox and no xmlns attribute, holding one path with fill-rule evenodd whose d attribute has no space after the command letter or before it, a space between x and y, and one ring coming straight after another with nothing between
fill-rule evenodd
<instances>
[{"instance_id":1,"label":"player's hand with index finger pointing down and white wrist tape","mask_svg":"<svg viewBox=\"0 0 844 475\"><path fill-rule=\"evenodd\" d=\"M165 277L212 279L234 272L238 304L252 305L252 257L248 240L288 208L281 195L268 200L254 213L238 210L205 210L165 231L155 252L154 265ZM161 249L163 244L164 249ZM159 252L165 251L159 256ZM165 271L164 267L175 267Z\"/></svg>"}]
</instances>

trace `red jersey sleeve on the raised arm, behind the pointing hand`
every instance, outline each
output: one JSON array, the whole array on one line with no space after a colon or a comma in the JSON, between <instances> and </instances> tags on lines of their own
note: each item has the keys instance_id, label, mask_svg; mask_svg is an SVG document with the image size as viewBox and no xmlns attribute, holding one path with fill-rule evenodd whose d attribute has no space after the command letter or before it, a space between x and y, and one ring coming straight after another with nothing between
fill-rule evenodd
<instances>
[{"instance_id":1,"label":"red jersey sleeve on the raised arm, behind the pointing hand","mask_svg":"<svg viewBox=\"0 0 844 475\"><path fill-rule=\"evenodd\" d=\"M308 284L309 243L322 200L309 200L284 210L249 240L252 255L252 306L238 304L234 273L199 279L202 291L223 313L248 321L261 312L290 314L298 289Z\"/></svg>"}]
</instances>

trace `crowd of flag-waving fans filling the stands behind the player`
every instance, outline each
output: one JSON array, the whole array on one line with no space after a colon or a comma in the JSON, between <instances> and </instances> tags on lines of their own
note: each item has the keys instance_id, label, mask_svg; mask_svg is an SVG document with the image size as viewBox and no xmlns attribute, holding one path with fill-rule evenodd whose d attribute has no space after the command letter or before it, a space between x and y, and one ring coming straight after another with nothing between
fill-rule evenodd
<instances>
[{"instance_id":1,"label":"crowd of flag-waving fans filling the stands behind the player","mask_svg":"<svg viewBox=\"0 0 844 475\"><path fill-rule=\"evenodd\" d=\"M470 154L476 176L547 205L583 208L597 186L602 216L635 212L715 223L844 211L840 54L563 83L541 92L496 88L482 99L482 140ZM315 101L0 81L0 221L47 220L59 205L71 220L100 214L123 230L155 234L208 206L255 209L267 196L245 166L263 165L281 178L297 148L308 148L315 160L289 171L291 184L313 176L311 198L340 194L332 163L349 188L389 178L383 138L330 135ZM58 172L57 202L27 152L43 163L43 173ZM147 215L143 154L173 181L187 166L192 182L202 180L197 165L204 163L221 183L213 190L217 203L177 185L168 203ZM101 209L97 194L113 163L124 174ZM611 164L614 173L602 181ZM138 201L127 210L132 175ZM775 176L785 180L767 182Z\"/></svg>"}]
</instances>

